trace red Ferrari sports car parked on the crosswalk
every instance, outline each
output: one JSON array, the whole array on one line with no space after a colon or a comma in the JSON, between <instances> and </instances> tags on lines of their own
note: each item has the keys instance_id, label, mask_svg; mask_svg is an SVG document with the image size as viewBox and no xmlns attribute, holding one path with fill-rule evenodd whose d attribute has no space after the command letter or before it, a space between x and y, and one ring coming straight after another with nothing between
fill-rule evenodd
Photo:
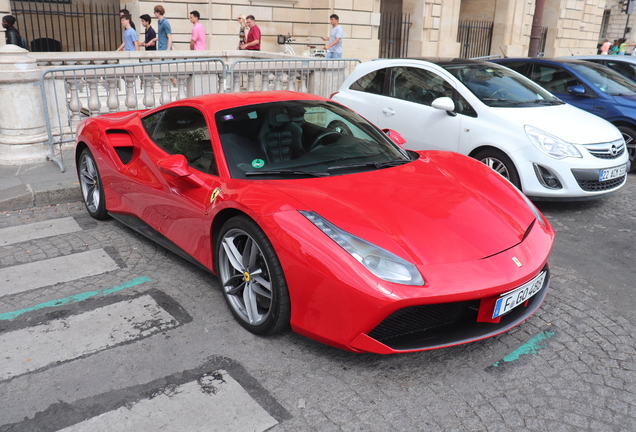
<instances>
[{"instance_id":1,"label":"red Ferrari sports car parked on the crosswalk","mask_svg":"<svg viewBox=\"0 0 636 432\"><path fill-rule=\"evenodd\" d=\"M92 217L218 275L253 333L397 353L527 319L550 281L543 215L486 165L387 133L318 96L216 94L86 119L76 162Z\"/></svg>"}]
</instances>

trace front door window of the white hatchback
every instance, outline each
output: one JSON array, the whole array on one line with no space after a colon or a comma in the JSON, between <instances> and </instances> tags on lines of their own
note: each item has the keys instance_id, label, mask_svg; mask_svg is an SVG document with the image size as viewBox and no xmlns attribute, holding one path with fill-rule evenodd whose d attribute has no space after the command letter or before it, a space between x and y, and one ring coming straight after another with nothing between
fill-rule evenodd
<instances>
[{"instance_id":1,"label":"front door window of the white hatchback","mask_svg":"<svg viewBox=\"0 0 636 432\"><path fill-rule=\"evenodd\" d=\"M411 67L393 68L391 97L430 106L439 97L453 97L453 87L436 73Z\"/></svg>"}]
</instances>

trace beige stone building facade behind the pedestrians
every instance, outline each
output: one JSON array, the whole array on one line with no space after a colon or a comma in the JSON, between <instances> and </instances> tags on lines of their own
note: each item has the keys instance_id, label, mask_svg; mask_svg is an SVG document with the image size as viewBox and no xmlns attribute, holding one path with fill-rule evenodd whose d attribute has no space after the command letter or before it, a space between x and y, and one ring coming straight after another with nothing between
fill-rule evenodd
<instances>
[{"instance_id":1,"label":"beige stone building facade behind the pedestrians","mask_svg":"<svg viewBox=\"0 0 636 432\"><path fill-rule=\"evenodd\" d=\"M80 0L74 0L80 1ZM81 0L88 1L88 0ZM636 14L621 13L619 0L545 0L543 26L545 55L591 54L605 37L625 35L636 41ZM379 56L382 12L408 14L408 50L405 55L460 56L464 41L458 37L466 20L490 23L490 49L484 55L527 55L534 16L534 0L166 0L120 1L138 22L139 15L153 16L155 5L166 9L174 32L174 49L189 48L192 25L189 12L198 10L208 35L210 50L231 50L238 44L240 14L254 15L263 33L262 50L284 51L277 35L291 34L299 44L322 45L329 34L329 15L340 16L344 30L344 56L366 61ZM0 14L11 2L0 0ZM153 20L154 21L154 20ZM156 28L156 22L153 22ZM626 33L626 30L634 31ZM137 25L138 31L141 26ZM141 35L140 35L141 37ZM4 39L0 39L0 45ZM306 46L294 46L300 54Z\"/></svg>"}]
</instances>

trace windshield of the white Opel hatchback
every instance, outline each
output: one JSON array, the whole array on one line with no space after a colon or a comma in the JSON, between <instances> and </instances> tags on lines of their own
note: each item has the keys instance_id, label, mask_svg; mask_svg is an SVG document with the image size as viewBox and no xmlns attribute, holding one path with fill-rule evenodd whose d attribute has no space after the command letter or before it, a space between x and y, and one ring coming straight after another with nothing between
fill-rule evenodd
<instances>
[{"instance_id":1,"label":"windshield of the white Opel hatchback","mask_svg":"<svg viewBox=\"0 0 636 432\"><path fill-rule=\"evenodd\" d=\"M560 105L560 99L508 68L493 64L444 66L484 104L491 107Z\"/></svg>"}]
</instances>

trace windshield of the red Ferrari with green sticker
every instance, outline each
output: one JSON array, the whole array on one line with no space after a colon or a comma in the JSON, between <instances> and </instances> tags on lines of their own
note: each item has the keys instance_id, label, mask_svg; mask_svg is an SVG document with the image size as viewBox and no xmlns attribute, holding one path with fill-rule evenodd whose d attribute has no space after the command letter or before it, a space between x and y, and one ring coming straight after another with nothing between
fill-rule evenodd
<instances>
[{"instance_id":1,"label":"windshield of the red Ferrari with green sticker","mask_svg":"<svg viewBox=\"0 0 636 432\"><path fill-rule=\"evenodd\" d=\"M215 119L233 178L325 177L411 161L382 131L333 102L243 106Z\"/></svg>"}]
</instances>

